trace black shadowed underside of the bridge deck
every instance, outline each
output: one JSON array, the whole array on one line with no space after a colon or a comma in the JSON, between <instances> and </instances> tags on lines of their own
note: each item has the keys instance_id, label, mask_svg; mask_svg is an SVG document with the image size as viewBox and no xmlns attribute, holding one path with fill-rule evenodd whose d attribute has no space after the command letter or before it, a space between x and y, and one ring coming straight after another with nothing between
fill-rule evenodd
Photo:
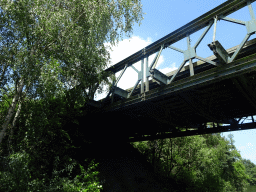
<instances>
[{"instance_id":1,"label":"black shadowed underside of the bridge deck","mask_svg":"<svg viewBox=\"0 0 256 192\"><path fill-rule=\"evenodd\" d=\"M176 133L179 128L199 130L207 122L229 124L231 119L256 114L255 92L256 71L251 71L232 79L108 112L106 116L112 122L108 132L128 138Z\"/></svg>"}]
</instances>

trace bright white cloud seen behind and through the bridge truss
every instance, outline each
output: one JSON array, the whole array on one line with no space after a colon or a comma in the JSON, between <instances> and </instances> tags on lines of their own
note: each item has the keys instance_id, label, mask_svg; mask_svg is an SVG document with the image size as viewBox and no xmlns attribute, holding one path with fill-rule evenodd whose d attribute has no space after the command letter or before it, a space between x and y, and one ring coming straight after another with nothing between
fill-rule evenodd
<instances>
[{"instance_id":1,"label":"bright white cloud seen behind and through the bridge truss","mask_svg":"<svg viewBox=\"0 0 256 192\"><path fill-rule=\"evenodd\" d=\"M110 66L118 63L119 61L122 61L123 59L129 57L130 55L136 53L137 51L143 49L144 47L148 46L149 44L152 43L151 38L147 38L147 40L142 39L139 36L133 36L130 39L124 39L123 41L120 41L118 45L115 47L112 47L112 51L110 51ZM107 44L109 46L109 44ZM153 59L155 57L155 54L149 56L148 59L148 65L150 66ZM146 59L144 60L144 66L145 66ZM156 68L158 68L162 63L164 63L164 57L163 55L160 55L158 63L156 65ZM173 65L174 64L174 65ZM175 66L175 63L173 63L173 67L165 67L163 69L159 69L163 73L168 73L172 70L177 69ZM141 70L141 61L135 63L133 65L137 70ZM118 72L116 73L116 77L119 76L121 73ZM131 88L135 85L135 83L138 80L138 75L137 72L134 71L131 67L127 68L125 73L123 74L122 78L118 82L117 86L122 88L122 89L128 89ZM96 100L102 99L106 96L106 94L101 94Z\"/></svg>"}]
</instances>

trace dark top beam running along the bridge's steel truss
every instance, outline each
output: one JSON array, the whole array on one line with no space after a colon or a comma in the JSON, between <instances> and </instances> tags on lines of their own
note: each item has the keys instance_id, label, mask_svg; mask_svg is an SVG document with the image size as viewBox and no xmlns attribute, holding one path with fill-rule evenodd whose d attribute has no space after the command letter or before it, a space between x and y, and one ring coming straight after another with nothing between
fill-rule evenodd
<instances>
[{"instance_id":1,"label":"dark top beam running along the bridge's steel truss","mask_svg":"<svg viewBox=\"0 0 256 192\"><path fill-rule=\"evenodd\" d=\"M256 0L251 0L251 2L254 2ZM191 35L192 33L195 33L196 31L199 31L200 29L206 27L209 25L211 21L214 20L216 16L222 16L225 17L243 7L247 6L247 0L229 0L218 7L208 11L207 13L203 14L202 16L196 18L195 20L189 22L188 24L180 27L179 29L173 31L172 33L164 36L163 38L159 39L158 41L148 45L147 47L141 49L140 51L134 53L133 55L125 58L124 60L118 62L117 64L109 67L105 71L111 71L113 73L116 73L124 68L126 64L128 66L140 61L142 58L145 57L145 55L149 56L157 51L160 50L161 46L164 44L164 48L170 46L171 44L179 41L180 39L183 39L187 37L188 35Z\"/></svg>"}]
</instances>

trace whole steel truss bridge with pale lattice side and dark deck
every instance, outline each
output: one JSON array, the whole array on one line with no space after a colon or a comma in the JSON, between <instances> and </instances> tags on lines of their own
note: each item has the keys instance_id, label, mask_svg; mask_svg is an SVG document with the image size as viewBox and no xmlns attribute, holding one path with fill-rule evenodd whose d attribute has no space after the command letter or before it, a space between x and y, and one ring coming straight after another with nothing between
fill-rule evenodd
<instances>
[{"instance_id":1,"label":"whole steel truss bridge with pale lattice side and dark deck","mask_svg":"<svg viewBox=\"0 0 256 192\"><path fill-rule=\"evenodd\" d=\"M119 123L129 142L255 128L256 39L248 41L256 33L253 2L226 1L106 69L113 74L121 71L121 74L113 82L107 97L88 102L86 109L94 114L112 114L110 121L115 123L118 123L120 114L125 115L127 121L140 123L129 127L124 126L125 122ZM228 17L246 6L251 17L249 21ZM221 42L215 40L220 20L246 28L247 34L239 45L225 50ZM202 58L196 49L211 28L213 41L208 47L213 55ZM204 29L201 37L191 45L191 34L201 29ZM187 50L173 46L184 38ZM163 74L155 67L166 48L182 53L184 60L177 70ZM149 64L148 57L155 53ZM193 62L193 59L198 61ZM140 71L133 66L138 61L141 61ZM189 62L188 66L185 66L186 62ZM138 80L133 88L123 90L117 87L117 83L128 67L137 72ZM153 121L156 123L151 126Z\"/></svg>"}]
</instances>

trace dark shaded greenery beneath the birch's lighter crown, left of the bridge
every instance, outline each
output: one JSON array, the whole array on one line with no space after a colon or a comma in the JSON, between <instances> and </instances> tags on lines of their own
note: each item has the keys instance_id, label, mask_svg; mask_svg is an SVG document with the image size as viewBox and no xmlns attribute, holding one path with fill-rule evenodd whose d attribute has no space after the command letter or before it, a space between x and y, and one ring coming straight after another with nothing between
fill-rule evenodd
<instances>
[{"instance_id":1,"label":"dark shaded greenery beneath the birch's lighter crown, left of the bridge","mask_svg":"<svg viewBox=\"0 0 256 192\"><path fill-rule=\"evenodd\" d=\"M24 102L13 130L12 150L8 137L0 146L10 167L1 170L0 191L99 191L96 165L92 162L86 170L70 157L73 137L62 127L75 121L79 106L73 108L68 102L65 95Z\"/></svg>"}]
</instances>

